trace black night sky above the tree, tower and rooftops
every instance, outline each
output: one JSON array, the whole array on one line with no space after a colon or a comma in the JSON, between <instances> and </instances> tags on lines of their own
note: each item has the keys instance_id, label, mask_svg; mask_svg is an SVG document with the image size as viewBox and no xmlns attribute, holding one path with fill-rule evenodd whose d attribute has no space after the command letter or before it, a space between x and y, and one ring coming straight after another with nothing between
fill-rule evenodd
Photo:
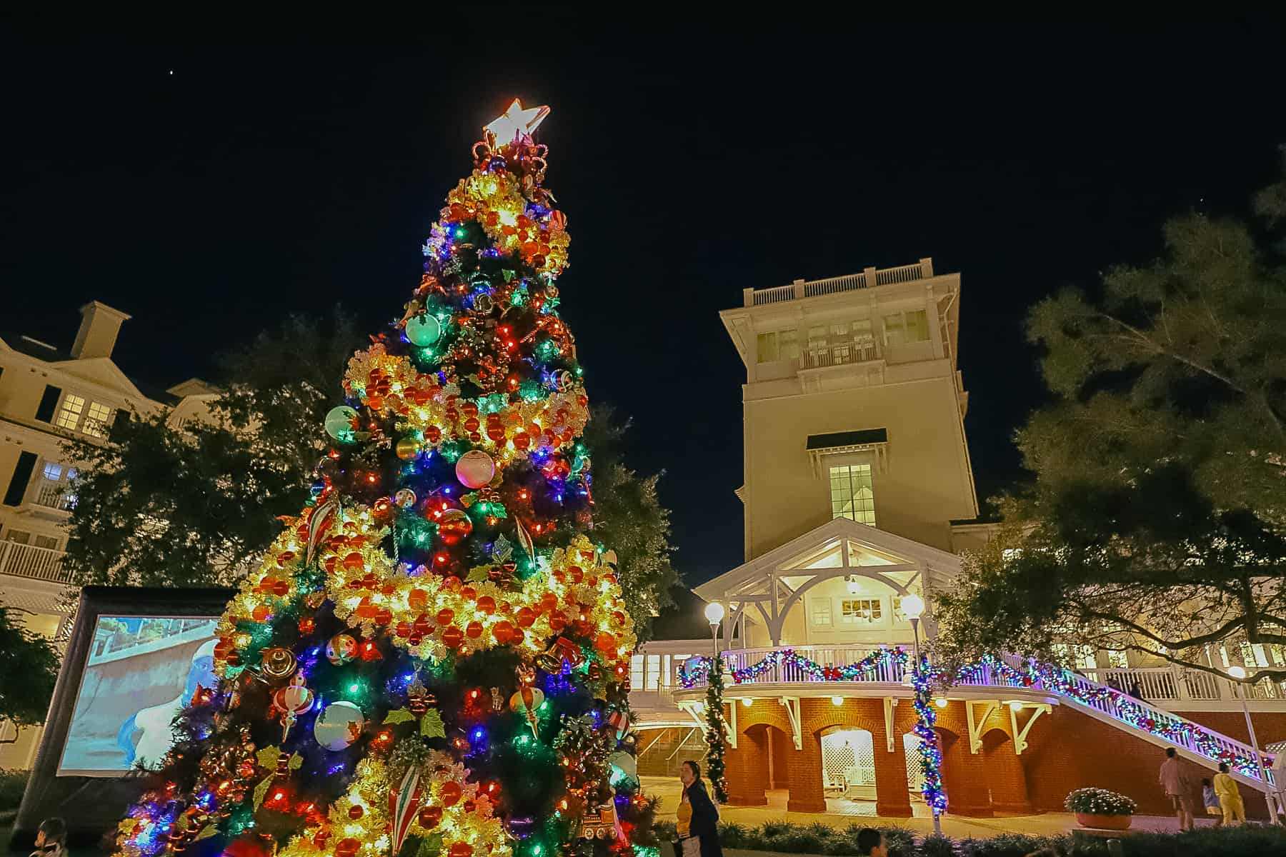
<instances>
[{"instance_id":1,"label":"black night sky above the tree, tower and rooftops","mask_svg":"<svg viewBox=\"0 0 1286 857\"><path fill-rule=\"evenodd\" d=\"M562 310L698 583L742 560L745 370L716 315L742 288L959 271L986 497L1042 398L1026 308L1152 257L1168 215L1245 212L1286 143L1274 27L626 33L532 10L539 36L502 17L484 39L482 14L400 48L0 45L0 329L66 348L103 301L134 315L117 362L162 387L292 311L377 330L480 126L549 104Z\"/></svg>"}]
</instances>

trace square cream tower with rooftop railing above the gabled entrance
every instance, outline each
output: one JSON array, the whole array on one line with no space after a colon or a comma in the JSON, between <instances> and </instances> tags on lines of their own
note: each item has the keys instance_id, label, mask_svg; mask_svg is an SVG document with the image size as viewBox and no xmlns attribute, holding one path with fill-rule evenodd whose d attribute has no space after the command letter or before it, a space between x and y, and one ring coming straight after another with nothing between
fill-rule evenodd
<instances>
[{"instance_id":1,"label":"square cream tower with rooftop railing above the gabled entrance","mask_svg":"<svg viewBox=\"0 0 1286 857\"><path fill-rule=\"evenodd\" d=\"M746 559L833 518L944 551L977 515L957 366L959 275L932 260L746 289Z\"/></svg>"}]
</instances>

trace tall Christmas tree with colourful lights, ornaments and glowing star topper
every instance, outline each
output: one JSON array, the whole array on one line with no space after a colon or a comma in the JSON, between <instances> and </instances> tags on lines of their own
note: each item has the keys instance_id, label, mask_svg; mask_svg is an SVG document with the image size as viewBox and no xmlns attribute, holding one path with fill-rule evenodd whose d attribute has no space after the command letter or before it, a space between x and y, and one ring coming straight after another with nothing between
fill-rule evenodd
<instances>
[{"instance_id":1,"label":"tall Christmas tree with colourful lights, ornaments and glowing star topper","mask_svg":"<svg viewBox=\"0 0 1286 857\"><path fill-rule=\"evenodd\" d=\"M656 853L633 621L590 536L588 398L558 316L567 218L531 136L547 114L514 102L484 128L120 854Z\"/></svg>"}]
</instances>

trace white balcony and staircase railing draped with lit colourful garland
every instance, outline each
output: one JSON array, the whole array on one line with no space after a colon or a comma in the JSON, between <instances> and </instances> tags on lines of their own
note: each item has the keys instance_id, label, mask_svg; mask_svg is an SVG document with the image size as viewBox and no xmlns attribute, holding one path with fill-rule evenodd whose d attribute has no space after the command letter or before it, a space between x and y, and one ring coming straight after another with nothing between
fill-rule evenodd
<instances>
[{"instance_id":1,"label":"white balcony and staircase railing draped with lit colourful garland","mask_svg":"<svg viewBox=\"0 0 1286 857\"><path fill-rule=\"evenodd\" d=\"M739 655L739 658L738 658ZM1220 732L1206 729L1200 723L1174 714L1164 708L1152 705L1145 700L1136 699L1125 693L1100 685L1070 669L1056 664L1040 663L1037 660L1007 655L1004 658L984 657L976 663L962 667L954 677L945 676L941 671L921 664L921 669L912 671L908 676L910 657L903 649L876 649L860 660L847 664L822 664L791 648L766 650L764 658L756 663L745 666L732 666L729 658L745 662L745 653L729 651L724 654L723 664L727 666L727 676L733 685L754 684L791 684L791 682L878 682L903 684L909 678L916 696L916 711L918 714L916 734L921 738L922 749L926 754L926 772L936 775L936 766L928 764L927 745L925 735L934 729L936 713L930 704L932 686L980 686L980 687L1022 687L1026 690L1042 690L1066 699L1076 705L1093 709L1112 721L1130 729L1139 730L1154 738L1172 743L1187 750L1190 754L1204 759L1211 766L1227 762L1232 771L1253 784L1260 784L1259 764L1255 761L1255 752L1249 744L1228 738ZM696 687L706 684L710 672L709 658L689 658L679 669L679 680L684 687ZM723 681L720 684L719 700L723 699ZM921 700L925 696L925 700ZM936 752L936 743L934 745ZM1274 785L1271 771L1273 755L1260 753L1268 784ZM926 798L934 799L940 791L940 780L930 786L926 781ZM945 798L941 798L945 799Z\"/></svg>"}]
</instances>

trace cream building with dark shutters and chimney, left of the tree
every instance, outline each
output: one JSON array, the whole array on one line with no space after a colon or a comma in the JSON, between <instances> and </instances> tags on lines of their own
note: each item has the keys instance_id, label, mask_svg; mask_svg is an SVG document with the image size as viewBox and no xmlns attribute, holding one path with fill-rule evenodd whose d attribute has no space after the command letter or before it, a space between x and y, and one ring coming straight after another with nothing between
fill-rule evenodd
<instances>
[{"instance_id":1,"label":"cream building with dark shutters and chimney, left of the tree","mask_svg":"<svg viewBox=\"0 0 1286 857\"><path fill-rule=\"evenodd\" d=\"M174 409L174 425L206 419L216 394L195 379L144 392L112 360L130 316L96 301L80 315L69 351L0 333L0 604L54 640L76 599L62 558L77 463L63 443L102 441L114 420L162 407ZM0 768L27 767L39 734L23 730L14 740L14 727L0 722Z\"/></svg>"}]
</instances>

